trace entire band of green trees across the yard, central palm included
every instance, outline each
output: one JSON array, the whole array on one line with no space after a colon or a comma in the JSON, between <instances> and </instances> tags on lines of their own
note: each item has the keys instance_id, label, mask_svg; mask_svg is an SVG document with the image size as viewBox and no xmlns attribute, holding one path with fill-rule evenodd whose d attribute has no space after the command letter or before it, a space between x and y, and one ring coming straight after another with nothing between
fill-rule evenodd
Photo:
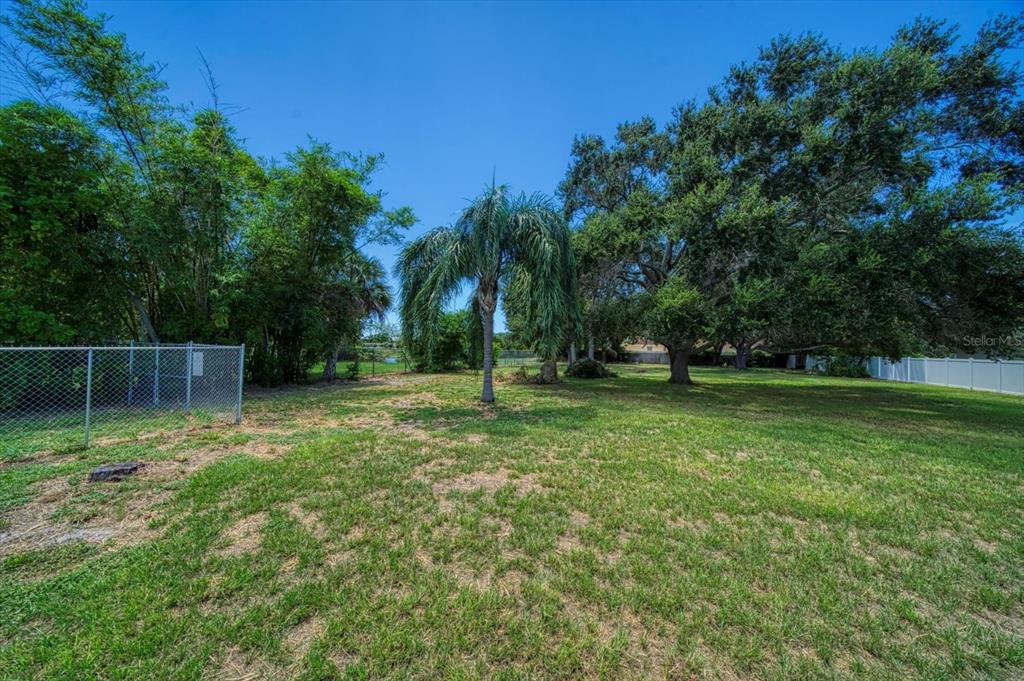
<instances>
[{"instance_id":1,"label":"entire band of green trees across the yard, central palm included","mask_svg":"<svg viewBox=\"0 0 1024 681\"><path fill-rule=\"evenodd\" d=\"M209 107L173 105L79 0L2 20L25 96L0 108L0 342L245 342L257 382L333 378L392 302L366 247L415 222L373 187L381 159L314 140L255 158L212 70ZM578 136L554 197L493 182L406 245L404 351L482 366L490 399L499 307L508 342L549 360L642 337L680 383L725 344L741 369L755 348L895 357L1018 335L1022 38L1021 15L970 39L922 18L852 52L783 36L664 125Z\"/></svg>"}]
</instances>

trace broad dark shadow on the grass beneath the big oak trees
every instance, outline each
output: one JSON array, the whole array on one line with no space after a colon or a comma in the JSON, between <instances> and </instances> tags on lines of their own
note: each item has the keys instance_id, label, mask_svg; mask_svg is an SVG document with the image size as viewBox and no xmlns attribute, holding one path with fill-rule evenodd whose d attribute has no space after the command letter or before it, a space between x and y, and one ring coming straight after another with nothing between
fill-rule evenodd
<instances>
[{"instance_id":1,"label":"broad dark shadow on the grass beneath the big oak trees","mask_svg":"<svg viewBox=\"0 0 1024 681\"><path fill-rule=\"evenodd\" d=\"M781 371L738 374L694 372L694 385L672 385L667 371L624 372L618 378L571 381L559 389L595 405L652 414L733 422L737 435L760 433L791 442L850 438L850 451L866 441L905 443L927 453L1005 472L1024 466L1024 401L1010 395L894 384L871 379L827 379ZM1014 446L1012 443L1017 442Z\"/></svg>"}]
</instances>

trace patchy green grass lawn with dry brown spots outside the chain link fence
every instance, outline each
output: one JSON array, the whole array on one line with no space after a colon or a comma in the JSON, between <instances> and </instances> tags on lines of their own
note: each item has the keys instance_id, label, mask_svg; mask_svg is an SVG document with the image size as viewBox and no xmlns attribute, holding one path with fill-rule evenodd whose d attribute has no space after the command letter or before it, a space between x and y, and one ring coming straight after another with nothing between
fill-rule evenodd
<instances>
[{"instance_id":1,"label":"patchy green grass lawn with dry brown spots outside the chain link fence","mask_svg":"<svg viewBox=\"0 0 1024 681\"><path fill-rule=\"evenodd\" d=\"M1024 675L1024 400L620 371L0 461L0 676Z\"/></svg>"}]
</instances>

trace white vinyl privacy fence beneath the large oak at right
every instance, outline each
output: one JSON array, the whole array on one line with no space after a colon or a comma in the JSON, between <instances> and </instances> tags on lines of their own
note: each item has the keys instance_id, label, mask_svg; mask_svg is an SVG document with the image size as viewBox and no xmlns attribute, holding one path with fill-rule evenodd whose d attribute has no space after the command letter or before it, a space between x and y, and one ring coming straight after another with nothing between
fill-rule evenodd
<instances>
[{"instance_id":1,"label":"white vinyl privacy fence beneath the large oak at right","mask_svg":"<svg viewBox=\"0 0 1024 681\"><path fill-rule=\"evenodd\" d=\"M819 357L808 356L805 368L808 371L816 371L823 364L823 359ZM871 378L886 381L926 383L1024 395L1022 360L903 357L898 361L890 361L885 357L871 357L865 366Z\"/></svg>"}]
</instances>

